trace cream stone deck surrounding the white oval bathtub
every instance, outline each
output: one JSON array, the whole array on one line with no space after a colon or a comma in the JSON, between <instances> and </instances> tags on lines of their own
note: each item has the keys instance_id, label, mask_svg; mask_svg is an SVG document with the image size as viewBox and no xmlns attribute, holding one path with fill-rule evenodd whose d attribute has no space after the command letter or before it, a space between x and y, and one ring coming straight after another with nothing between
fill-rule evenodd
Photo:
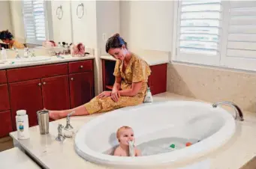
<instances>
[{"instance_id":1,"label":"cream stone deck surrounding the white oval bathtub","mask_svg":"<svg viewBox=\"0 0 256 169\"><path fill-rule=\"evenodd\" d=\"M166 100L193 100L200 101L173 93L161 93L153 96L154 102ZM223 107L227 108L227 107ZM227 108L228 111L232 110ZM232 110L233 111L233 110ZM232 112L233 113L233 112ZM191 165L197 162L206 162L207 167L203 169L239 169L256 155L256 114L244 111L245 120L236 122L236 133L227 141L227 144L218 150L206 154L206 156L185 162L179 165ZM92 114L83 117L71 117L71 124L74 129L80 129L84 123L92 120L101 114ZM50 134L40 135L38 126L29 128L31 137L28 140L18 140L17 132L11 132L14 144L20 145L30 155L32 155L44 168L50 169L70 169L70 168L90 168L106 169L107 167L95 165L80 158L74 150L74 138L66 138L63 143L55 141L57 126L59 123L65 125L65 119L56 120L50 123ZM165 168L167 169L167 168ZM184 169L184 168L183 168Z\"/></svg>"}]
</instances>

